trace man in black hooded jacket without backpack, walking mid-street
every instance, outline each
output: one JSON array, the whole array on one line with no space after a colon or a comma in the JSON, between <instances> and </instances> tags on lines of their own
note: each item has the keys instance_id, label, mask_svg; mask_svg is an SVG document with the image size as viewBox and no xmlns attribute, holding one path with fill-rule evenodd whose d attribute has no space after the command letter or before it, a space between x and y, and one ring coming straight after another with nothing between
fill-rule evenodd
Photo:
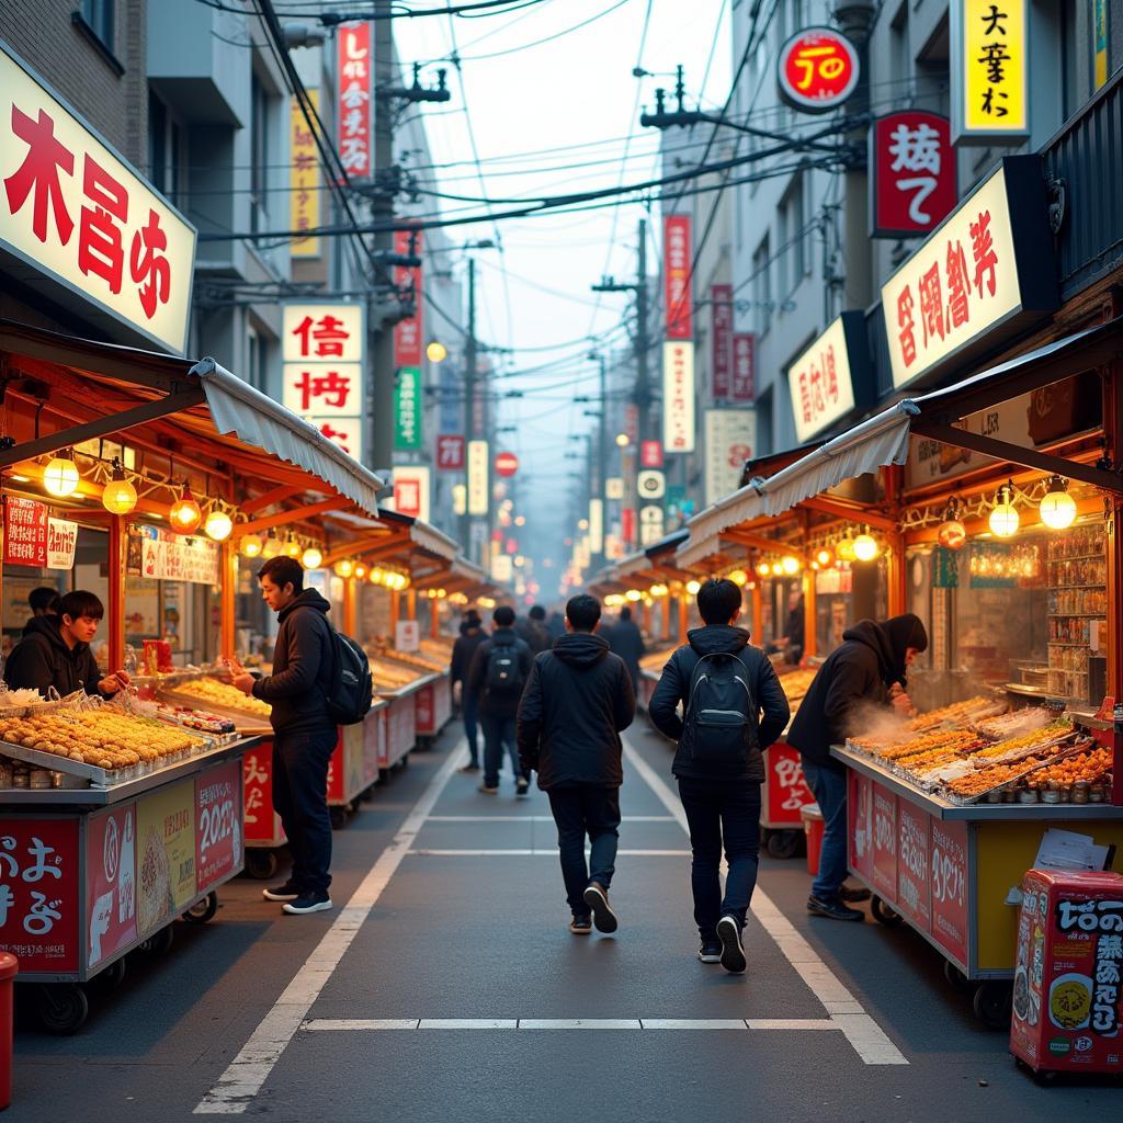
<instances>
[{"instance_id":1,"label":"man in black hooded jacket without backpack, walking mid-street","mask_svg":"<svg viewBox=\"0 0 1123 1123\"><path fill-rule=\"evenodd\" d=\"M636 715L628 668L594 634L600 619L596 597L569 601L566 634L535 659L519 705L519 756L523 769L538 772L538 786L550 798L576 935L586 935L594 921L600 932L617 930L609 885L623 783L620 733Z\"/></svg>"}]
</instances>

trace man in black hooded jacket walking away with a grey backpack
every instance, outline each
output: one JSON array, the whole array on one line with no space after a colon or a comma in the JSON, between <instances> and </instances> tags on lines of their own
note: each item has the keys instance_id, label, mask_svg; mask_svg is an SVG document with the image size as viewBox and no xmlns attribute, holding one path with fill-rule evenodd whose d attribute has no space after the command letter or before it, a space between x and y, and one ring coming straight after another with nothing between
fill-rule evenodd
<instances>
[{"instance_id":1,"label":"man in black hooded jacket walking away with a grey backpack","mask_svg":"<svg viewBox=\"0 0 1123 1123\"><path fill-rule=\"evenodd\" d=\"M705 627L687 632L690 645L678 648L663 668L648 714L657 729L678 741L672 770L691 829L691 888L702 938L699 959L740 974L746 968L741 930L760 852L761 752L783 732L788 706L772 664L763 651L748 646L749 633L736 627L741 614L740 588L731 581L707 581L699 590L697 604ZM723 760L705 751L709 727L701 727L701 715L691 712L691 699L702 678L707 672L721 673L722 657L740 664L725 672L731 669L749 695L743 752ZM679 702L683 719L676 713ZM729 864L724 898L719 874L723 840Z\"/></svg>"}]
</instances>

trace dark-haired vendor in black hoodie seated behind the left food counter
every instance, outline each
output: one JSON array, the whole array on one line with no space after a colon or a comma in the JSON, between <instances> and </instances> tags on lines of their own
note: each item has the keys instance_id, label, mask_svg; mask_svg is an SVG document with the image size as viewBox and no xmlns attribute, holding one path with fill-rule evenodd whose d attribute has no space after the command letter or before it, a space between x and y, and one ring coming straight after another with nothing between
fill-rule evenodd
<instances>
[{"instance_id":1,"label":"dark-haired vendor in black hoodie seated behind the left food counter","mask_svg":"<svg viewBox=\"0 0 1123 1123\"><path fill-rule=\"evenodd\" d=\"M31 617L22 639L12 648L3 668L3 681L13 690L46 694L54 686L65 697L75 691L112 697L129 684L124 670L102 675L90 650L104 605L85 590L67 593L58 602L57 615Z\"/></svg>"}]
</instances>

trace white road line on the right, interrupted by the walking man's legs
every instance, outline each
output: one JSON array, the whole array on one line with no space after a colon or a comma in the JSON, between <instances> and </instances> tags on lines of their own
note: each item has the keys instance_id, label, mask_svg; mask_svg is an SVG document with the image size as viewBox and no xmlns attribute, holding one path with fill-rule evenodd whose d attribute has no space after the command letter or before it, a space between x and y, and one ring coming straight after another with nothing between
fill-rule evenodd
<instances>
[{"instance_id":1,"label":"white road line on the right, interrupted by the walking man's legs","mask_svg":"<svg viewBox=\"0 0 1123 1123\"><path fill-rule=\"evenodd\" d=\"M624 742L624 756L659 802L690 834L686 812L667 782L633 749ZM907 1065L909 1061L888 1039L885 1031L867 1014L857 998L842 985L839 977L823 962L819 953L795 930L792 922L776 907L772 898L758 886L752 894L752 913L765 931L776 941L787 961L796 969L811 992L831 1015L867 1065Z\"/></svg>"}]
</instances>

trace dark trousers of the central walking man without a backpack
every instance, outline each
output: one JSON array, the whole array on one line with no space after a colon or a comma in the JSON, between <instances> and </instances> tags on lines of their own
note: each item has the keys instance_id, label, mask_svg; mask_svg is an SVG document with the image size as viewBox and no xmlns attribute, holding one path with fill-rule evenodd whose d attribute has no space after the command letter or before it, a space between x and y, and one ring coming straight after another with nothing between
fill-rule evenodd
<instances>
[{"instance_id":1,"label":"dark trousers of the central walking man without a backpack","mask_svg":"<svg viewBox=\"0 0 1123 1123\"><path fill-rule=\"evenodd\" d=\"M608 888L612 882L620 836L620 788L574 784L551 787L550 811L558 829L562 851L562 877L566 901L574 916L587 916L585 889L590 882ZM585 865L585 836L592 842L588 865Z\"/></svg>"}]
</instances>

